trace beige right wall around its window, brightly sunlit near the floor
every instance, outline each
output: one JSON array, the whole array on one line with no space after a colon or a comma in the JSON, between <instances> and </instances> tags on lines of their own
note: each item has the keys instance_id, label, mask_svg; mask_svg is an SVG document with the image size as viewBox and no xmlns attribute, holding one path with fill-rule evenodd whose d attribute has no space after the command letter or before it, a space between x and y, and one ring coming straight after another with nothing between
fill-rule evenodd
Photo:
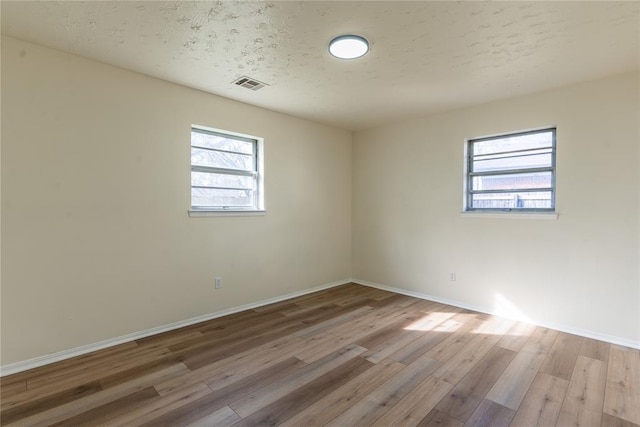
<instances>
[{"instance_id":1,"label":"beige right wall around its window, brightly sunlit near the floor","mask_svg":"<svg viewBox=\"0 0 640 427\"><path fill-rule=\"evenodd\" d=\"M354 278L640 346L639 77L357 132ZM554 125L557 220L461 214L466 138Z\"/></svg>"}]
</instances>

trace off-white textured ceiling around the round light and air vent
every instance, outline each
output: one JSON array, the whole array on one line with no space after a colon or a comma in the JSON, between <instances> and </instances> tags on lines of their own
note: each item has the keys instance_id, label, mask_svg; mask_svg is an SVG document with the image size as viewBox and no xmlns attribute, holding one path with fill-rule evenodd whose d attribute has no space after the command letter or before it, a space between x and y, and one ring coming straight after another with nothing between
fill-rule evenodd
<instances>
[{"instance_id":1,"label":"off-white textured ceiling around the round light and air vent","mask_svg":"<svg viewBox=\"0 0 640 427\"><path fill-rule=\"evenodd\" d=\"M640 69L638 1L0 4L3 34L351 130ZM333 58L345 33L371 51Z\"/></svg>"}]
</instances>

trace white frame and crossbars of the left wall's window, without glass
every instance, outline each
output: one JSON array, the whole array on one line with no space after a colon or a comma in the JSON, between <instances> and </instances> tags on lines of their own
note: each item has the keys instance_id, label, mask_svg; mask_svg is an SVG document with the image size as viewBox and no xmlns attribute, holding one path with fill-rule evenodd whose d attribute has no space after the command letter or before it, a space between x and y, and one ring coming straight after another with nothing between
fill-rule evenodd
<instances>
[{"instance_id":1,"label":"white frame and crossbars of the left wall's window, without glass","mask_svg":"<svg viewBox=\"0 0 640 427\"><path fill-rule=\"evenodd\" d=\"M191 132L200 132L206 134L219 135L223 137L228 137L230 139L240 139L243 141L253 143L253 164L254 168L252 171L242 171L235 169L225 169L218 167L209 167L209 166L198 166L191 163L191 172L209 172L209 173L224 173L228 175L238 175L238 176L253 176L256 179L256 188L255 188L255 204L254 206L247 207L239 207L239 206L193 206L193 186L190 186L190 209L189 216L191 217L202 217L202 216L245 216L245 215L261 215L264 214L265 206L264 206L264 139L247 135L238 132L232 132L217 128L211 128L207 126L201 125L191 125ZM191 136L189 137L191 140ZM193 147L193 142L191 141L189 144L189 149ZM191 179L189 180L191 182Z\"/></svg>"}]
</instances>

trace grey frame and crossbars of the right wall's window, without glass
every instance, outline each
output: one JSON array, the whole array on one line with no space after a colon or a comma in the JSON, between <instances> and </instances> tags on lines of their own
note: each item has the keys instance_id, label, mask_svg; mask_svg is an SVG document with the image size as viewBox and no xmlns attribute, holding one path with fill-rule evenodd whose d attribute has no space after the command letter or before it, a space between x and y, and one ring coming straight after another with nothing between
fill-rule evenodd
<instances>
[{"instance_id":1,"label":"grey frame and crossbars of the right wall's window, without glass","mask_svg":"<svg viewBox=\"0 0 640 427\"><path fill-rule=\"evenodd\" d=\"M501 139L505 137L517 137L523 135L531 135L536 133L552 133L551 140L551 166L549 167L539 167L539 168L524 168L524 169L505 169L491 172L470 172L472 170L472 162L473 162L473 144L475 142L481 141L489 141L494 139ZM483 136L478 138L467 138L464 142L464 179L463 179L463 214L476 214L475 216L489 216L497 217L506 215L514 215L514 216L524 216L528 217L541 217L541 216L550 216L557 218L556 211L556 141L557 141L557 127L556 126L546 126L536 129L524 130L524 131L516 131L516 132L507 132L497 135ZM531 151L531 150L526 150ZM518 150L508 151L505 153L516 153ZM492 153L499 154L499 153ZM472 192L470 188L472 188L472 180L474 176L483 176L483 175L508 175L508 174L518 174L518 173L532 173L532 172L551 172L551 186L545 188L526 188L523 189L525 191L551 191L551 208L472 208L471 198L473 194L478 194L478 191ZM500 192L514 192L507 190L493 190L487 191L488 193L500 193Z\"/></svg>"}]
</instances>

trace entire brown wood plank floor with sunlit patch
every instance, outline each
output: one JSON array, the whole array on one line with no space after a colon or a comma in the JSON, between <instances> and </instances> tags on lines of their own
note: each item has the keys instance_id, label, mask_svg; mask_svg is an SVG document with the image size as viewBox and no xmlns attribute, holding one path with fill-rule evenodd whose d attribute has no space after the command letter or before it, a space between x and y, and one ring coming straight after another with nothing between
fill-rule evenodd
<instances>
[{"instance_id":1,"label":"entire brown wood plank floor with sunlit patch","mask_svg":"<svg viewBox=\"0 0 640 427\"><path fill-rule=\"evenodd\" d=\"M640 426L638 350L355 284L0 385L11 426Z\"/></svg>"}]
</instances>

